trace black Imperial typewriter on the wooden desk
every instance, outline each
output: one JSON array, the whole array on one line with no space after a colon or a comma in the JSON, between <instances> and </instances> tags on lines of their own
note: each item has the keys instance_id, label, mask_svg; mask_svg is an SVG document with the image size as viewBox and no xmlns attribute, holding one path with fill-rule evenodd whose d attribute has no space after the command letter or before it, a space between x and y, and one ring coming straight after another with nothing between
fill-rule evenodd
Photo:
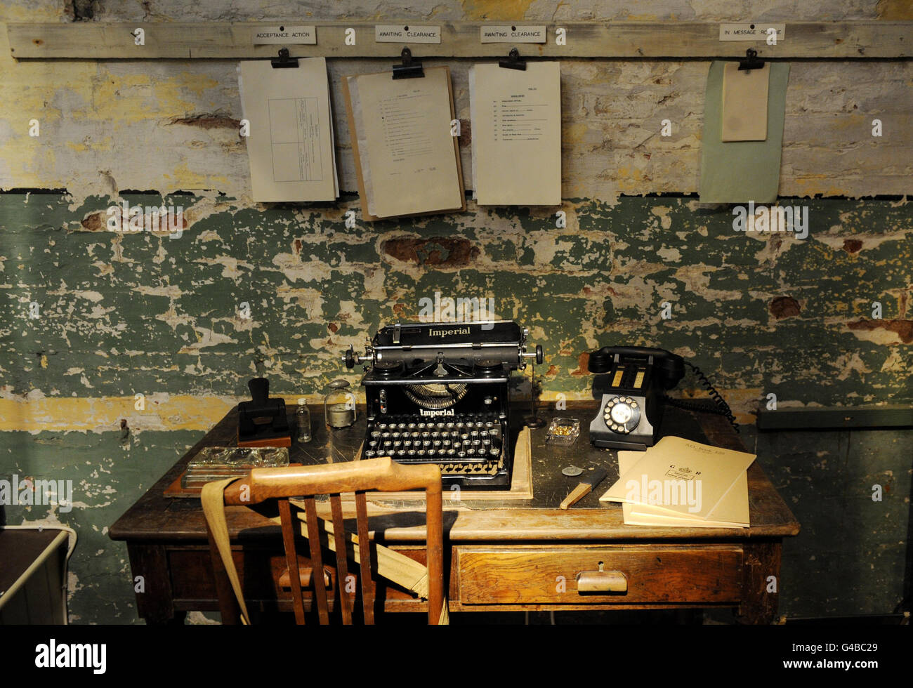
<instances>
[{"instance_id":1,"label":"black Imperial typewriter on the wooden desk","mask_svg":"<svg viewBox=\"0 0 913 688\"><path fill-rule=\"evenodd\" d=\"M509 489L509 380L542 348L510 320L408 323L380 329L348 368L363 365L364 456L438 464L445 485Z\"/></svg>"}]
</instances>

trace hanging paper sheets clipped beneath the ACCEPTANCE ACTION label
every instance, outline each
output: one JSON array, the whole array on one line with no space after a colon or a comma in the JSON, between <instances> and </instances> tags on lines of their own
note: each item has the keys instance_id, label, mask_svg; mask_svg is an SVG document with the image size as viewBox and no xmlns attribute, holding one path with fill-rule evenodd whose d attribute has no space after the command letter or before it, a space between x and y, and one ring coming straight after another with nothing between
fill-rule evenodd
<instances>
[{"instance_id":1,"label":"hanging paper sheets clipped beneath the ACCEPTANCE ACTION label","mask_svg":"<svg viewBox=\"0 0 913 688\"><path fill-rule=\"evenodd\" d=\"M297 68L245 61L238 72L254 200L335 201L340 190L326 59L299 57Z\"/></svg>"}]
</instances>

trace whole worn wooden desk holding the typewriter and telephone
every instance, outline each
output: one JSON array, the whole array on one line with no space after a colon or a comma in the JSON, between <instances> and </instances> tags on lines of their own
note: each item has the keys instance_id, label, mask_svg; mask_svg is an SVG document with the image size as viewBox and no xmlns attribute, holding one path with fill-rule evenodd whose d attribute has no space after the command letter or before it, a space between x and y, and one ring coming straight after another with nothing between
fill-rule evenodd
<instances>
[{"instance_id":1,"label":"whole worn wooden desk holding the typewriter and telephone","mask_svg":"<svg viewBox=\"0 0 913 688\"><path fill-rule=\"evenodd\" d=\"M572 447L547 447L545 429L532 431L532 499L453 503L445 495L450 610L728 607L742 622L770 623L780 591L782 538L797 535L799 524L761 466L755 462L749 470L750 528L625 526L621 506L598 501L617 479L618 464L613 451L588 442L586 430L595 408L594 402L584 402L558 413L581 419L582 435ZM320 425L321 414L312 415L314 425ZM551 418L551 413L542 415ZM199 500L166 498L163 490L202 447L232 444L236 418L236 411L226 415L110 527L112 539L127 542L133 576L143 577L137 610L149 623L180 621L188 610L218 610ZM669 434L744 451L738 435L719 416L670 407L665 427ZM326 433L314 430L311 443L293 444L292 462L326 461ZM351 458L363 437L363 421L337 433L336 460ZM596 463L609 469L603 484L569 511L561 511L561 499L576 485L561 468ZM279 529L268 516L274 515L227 509L236 564L248 608L290 610L289 590L278 584L285 569ZM370 527L377 541L417 560L424 558L424 515L381 513L372 516ZM308 566L306 559L302 563ZM577 574L598 570L601 563L605 570L624 572L627 592L578 593ZM775 592L767 591L771 576L776 578ZM390 611L424 607L394 587L379 589L378 601Z\"/></svg>"}]
</instances>

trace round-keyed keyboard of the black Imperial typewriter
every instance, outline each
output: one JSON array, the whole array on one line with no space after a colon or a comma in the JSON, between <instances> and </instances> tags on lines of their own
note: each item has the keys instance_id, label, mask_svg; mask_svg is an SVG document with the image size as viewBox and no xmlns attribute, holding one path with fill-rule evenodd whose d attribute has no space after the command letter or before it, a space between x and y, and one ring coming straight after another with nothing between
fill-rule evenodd
<instances>
[{"instance_id":1,"label":"round-keyed keyboard of the black Imperial typewriter","mask_svg":"<svg viewBox=\"0 0 913 688\"><path fill-rule=\"evenodd\" d=\"M444 474L494 473L503 465L503 429L497 416L429 421L415 416L368 421L364 457L390 456L401 464L440 464Z\"/></svg>"}]
</instances>

